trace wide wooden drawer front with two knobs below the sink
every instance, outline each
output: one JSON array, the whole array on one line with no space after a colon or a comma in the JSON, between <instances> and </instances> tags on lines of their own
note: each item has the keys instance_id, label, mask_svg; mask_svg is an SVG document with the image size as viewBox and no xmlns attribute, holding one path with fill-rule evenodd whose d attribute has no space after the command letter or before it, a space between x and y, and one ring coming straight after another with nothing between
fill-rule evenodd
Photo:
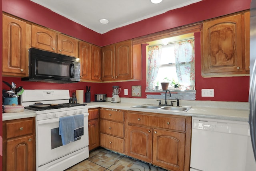
<instances>
[{"instance_id":1,"label":"wide wooden drawer front with two knobs below the sink","mask_svg":"<svg viewBox=\"0 0 256 171\"><path fill-rule=\"evenodd\" d=\"M154 116L147 114L128 114L128 123L186 131L186 118Z\"/></svg>"}]
</instances>

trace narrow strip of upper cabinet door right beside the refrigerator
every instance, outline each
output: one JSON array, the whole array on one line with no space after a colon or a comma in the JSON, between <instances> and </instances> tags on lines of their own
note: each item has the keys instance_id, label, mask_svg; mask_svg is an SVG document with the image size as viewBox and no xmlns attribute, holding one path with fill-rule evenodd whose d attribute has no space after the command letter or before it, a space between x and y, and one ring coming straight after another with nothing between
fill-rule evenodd
<instances>
[{"instance_id":1,"label":"narrow strip of upper cabinet door right beside the refrigerator","mask_svg":"<svg viewBox=\"0 0 256 171\"><path fill-rule=\"evenodd\" d=\"M250 12L244 13L245 70L250 71Z\"/></svg>"}]
</instances>

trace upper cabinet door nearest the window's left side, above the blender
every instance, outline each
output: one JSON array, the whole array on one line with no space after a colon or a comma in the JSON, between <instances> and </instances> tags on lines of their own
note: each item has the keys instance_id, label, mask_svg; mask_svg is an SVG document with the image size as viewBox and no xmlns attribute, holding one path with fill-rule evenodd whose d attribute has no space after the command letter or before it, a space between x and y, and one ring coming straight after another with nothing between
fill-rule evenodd
<instances>
[{"instance_id":1,"label":"upper cabinet door nearest the window's left side, above the blender","mask_svg":"<svg viewBox=\"0 0 256 171\"><path fill-rule=\"evenodd\" d=\"M115 45L115 79L132 79L132 41L122 41Z\"/></svg>"}]
</instances>

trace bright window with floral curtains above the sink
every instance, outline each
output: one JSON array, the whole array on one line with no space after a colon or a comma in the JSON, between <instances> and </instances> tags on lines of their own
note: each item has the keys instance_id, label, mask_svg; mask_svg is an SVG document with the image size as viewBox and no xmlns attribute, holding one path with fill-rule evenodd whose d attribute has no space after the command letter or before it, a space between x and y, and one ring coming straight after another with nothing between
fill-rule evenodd
<instances>
[{"instance_id":1,"label":"bright window with floral curtains above the sink","mask_svg":"<svg viewBox=\"0 0 256 171\"><path fill-rule=\"evenodd\" d=\"M161 90L162 82L170 83L169 90L194 90L194 38L148 45L147 71L146 90Z\"/></svg>"}]
</instances>

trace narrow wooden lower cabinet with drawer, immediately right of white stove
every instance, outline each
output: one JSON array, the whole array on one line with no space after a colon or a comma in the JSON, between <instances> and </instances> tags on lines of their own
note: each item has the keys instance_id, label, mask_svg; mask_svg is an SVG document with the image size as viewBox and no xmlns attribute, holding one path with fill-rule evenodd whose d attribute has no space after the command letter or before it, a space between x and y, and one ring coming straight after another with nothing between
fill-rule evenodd
<instances>
[{"instance_id":1,"label":"narrow wooden lower cabinet with drawer, immediately right of white stove","mask_svg":"<svg viewBox=\"0 0 256 171\"><path fill-rule=\"evenodd\" d=\"M100 146L99 109L89 109L88 113L89 150L92 150Z\"/></svg>"}]
</instances>

